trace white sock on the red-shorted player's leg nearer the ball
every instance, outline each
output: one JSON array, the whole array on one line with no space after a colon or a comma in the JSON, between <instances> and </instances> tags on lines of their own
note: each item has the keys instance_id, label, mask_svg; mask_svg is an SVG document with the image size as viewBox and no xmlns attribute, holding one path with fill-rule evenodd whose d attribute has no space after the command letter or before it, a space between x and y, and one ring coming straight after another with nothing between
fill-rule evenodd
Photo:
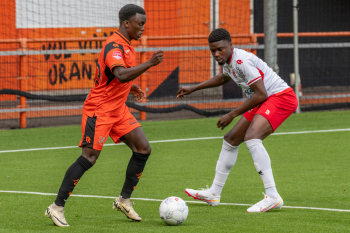
<instances>
[{"instance_id":1,"label":"white sock on the red-shorted player's leg nearer the ball","mask_svg":"<svg viewBox=\"0 0 350 233\"><path fill-rule=\"evenodd\" d=\"M230 143L226 142L225 139L223 140L221 153L216 163L215 178L210 187L210 192L217 196L221 195L230 170L236 163L238 147L239 146L232 146Z\"/></svg>"}]
</instances>

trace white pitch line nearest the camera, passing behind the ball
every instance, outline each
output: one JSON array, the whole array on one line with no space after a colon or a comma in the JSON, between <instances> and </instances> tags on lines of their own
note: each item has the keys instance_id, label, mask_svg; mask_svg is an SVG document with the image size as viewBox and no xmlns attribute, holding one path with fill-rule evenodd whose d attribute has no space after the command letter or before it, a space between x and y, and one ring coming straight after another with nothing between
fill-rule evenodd
<instances>
[{"instance_id":1,"label":"white pitch line nearest the camera, passing behind the ball","mask_svg":"<svg viewBox=\"0 0 350 233\"><path fill-rule=\"evenodd\" d=\"M40 193L40 192L24 192L24 191L6 191L0 190L0 193L17 193L17 194L34 194L34 195L42 195L42 196L56 196L55 193ZM116 199L117 197L108 197L108 196L95 196L95 195L77 195L72 194L71 197L92 197L92 198L105 198L105 199ZM140 201L163 201L161 199L151 199L151 198L131 198L133 200ZM199 201L186 201L188 203L196 203L196 204L206 204L204 202ZM250 204L237 204L237 203L220 203L220 205L233 205L233 206L252 206ZM283 208L290 209L306 209L306 210L325 210L325 211L336 211L336 212L350 212L350 210L343 209L330 209L330 208L318 208L318 207L303 207L303 206L283 206Z\"/></svg>"}]
</instances>

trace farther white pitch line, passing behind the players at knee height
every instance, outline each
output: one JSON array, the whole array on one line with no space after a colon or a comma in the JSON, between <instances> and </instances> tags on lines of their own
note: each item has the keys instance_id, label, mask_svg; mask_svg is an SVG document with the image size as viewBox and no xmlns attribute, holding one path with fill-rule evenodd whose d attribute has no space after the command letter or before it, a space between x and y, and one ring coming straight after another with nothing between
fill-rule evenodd
<instances>
[{"instance_id":1,"label":"farther white pitch line, passing behind the players at knee height","mask_svg":"<svg viewBox=\"0 0 350 233\"><path fill-rule=\"evenodd\" d=\"M288 134L306 134L306 133L328 133L328 132L341 132L341 131L350 131L348 129L328 129L328 130L314 130L314 131L299 131L299 132L283 132L283 133L273 133L273 135L288 135ZM196 140L209 140L209 139L218 139L220 137L204 137L204 138L184 138L184 139L170 139L170 140L158 140L150 141L149 143L160 143L160 142L182 142L182 141L196 141ZM120 146L125 145L124 143L119 144L105 144L104 146ZM0 153L10 153L10 152L24 152L24 151L38 151L38 150L59 150L59 149L72 149L79 148L78 146L63 146L63 147L47 147L47 148L32 148L32 149L21 149L21 150L3 150Z\"/></svg>"}]
</instances>

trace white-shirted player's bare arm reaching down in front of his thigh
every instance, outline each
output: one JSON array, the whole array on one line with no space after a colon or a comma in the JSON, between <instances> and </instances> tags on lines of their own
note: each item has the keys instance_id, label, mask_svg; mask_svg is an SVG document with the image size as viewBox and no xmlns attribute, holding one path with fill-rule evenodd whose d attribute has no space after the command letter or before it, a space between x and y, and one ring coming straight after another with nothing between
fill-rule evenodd
<instances>
[{"instance_id":1,"label":"white-shirted player's bare arm reaching down in front of his thigh","mask_svg":"<svg viewBox=\"0 0 350 233\"><path fill-rule=\"evenodd\" d=\"M264 86L263 81L260 79L250 85L250 88L254 92L254 95L247 99L242 105L240 105L238 108L234 109L233 111L225 114L222 116L219 121L217 122L218 128L221 128L223 130L226 126L228 126L232 120L245 113L246 111L258 106L262 102L264 102L267 98L267 92Z\"/></svg>"}]
</instances>

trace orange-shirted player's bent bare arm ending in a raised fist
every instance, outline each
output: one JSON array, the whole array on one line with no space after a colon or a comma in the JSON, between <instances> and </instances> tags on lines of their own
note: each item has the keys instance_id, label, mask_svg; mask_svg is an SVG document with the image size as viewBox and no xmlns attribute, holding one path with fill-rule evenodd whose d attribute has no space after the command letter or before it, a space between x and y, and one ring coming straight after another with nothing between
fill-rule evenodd
<instances>
[{"instance_id":1,"label":"orange-shirted player's bent bare arm ending in a raised fist","mask_svg":"<svg viewBox=\"0 0 350 233\"><path fill-rule=\"evenodd\" d=\"M130 82L137 77L139 77L142 73L147 71L152 66L156 66L159 63L163 61L163 51L158 50L153 54L151 59L149 59L147 62L142 63L138 66L132 67L132 68L125 68L122 66L116 66L113 68L113 74L114 76L121 82Z\"/></svg>"}]
</instances>

